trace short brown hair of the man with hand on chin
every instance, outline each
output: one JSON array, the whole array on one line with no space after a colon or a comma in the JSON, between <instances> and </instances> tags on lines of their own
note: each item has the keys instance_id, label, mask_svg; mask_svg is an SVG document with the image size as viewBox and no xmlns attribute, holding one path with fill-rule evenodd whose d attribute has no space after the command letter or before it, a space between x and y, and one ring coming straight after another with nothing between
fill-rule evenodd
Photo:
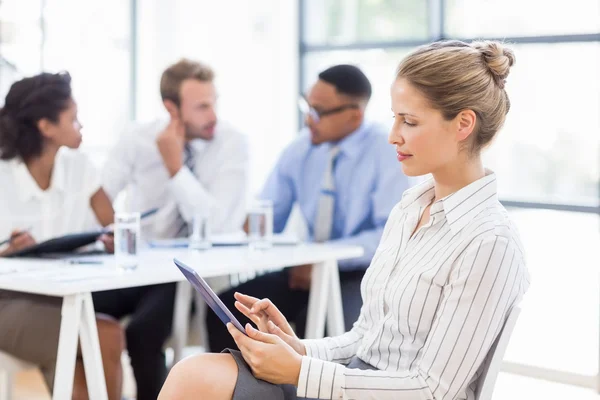
<instances>
[{"instance_id":1,"label":"short brown hair of the man with hand on chin","mask_svg":"<svg viewBox=\"0 0 600 400\"><path fill-rule=\"evenodd\" d=\"M160 78L160 96L163 101L171 100L179 106L179 90L183 81L196 79L200 82L212 82L214 77L215 74L208 65L182 58L163 72Z\"/></svg>"}]
</instances>

